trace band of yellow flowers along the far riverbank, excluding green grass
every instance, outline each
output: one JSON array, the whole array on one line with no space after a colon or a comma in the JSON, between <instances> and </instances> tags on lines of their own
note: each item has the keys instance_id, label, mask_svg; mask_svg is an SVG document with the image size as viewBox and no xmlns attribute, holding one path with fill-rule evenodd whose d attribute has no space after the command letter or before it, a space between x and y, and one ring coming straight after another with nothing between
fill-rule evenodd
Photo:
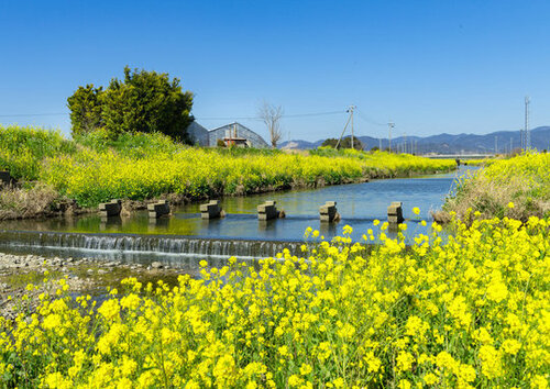
<instances>
[{"instance_id":1,"label":"band of yellow flowers along the far riverbank, excluding green grass","mask_svg":"<svg viewBox=\"0 0 550 389\"><path fill-rule=\"evenodd\" d=\"M232 155L180 147L135 158L114 151L85 149L78 155L48 159L42 179L80 204L92 205L112 198L146 199L180 193L198 199L453 168L450 162L410 155L361 153L360 156L364 158L255 152Z\"/></svg>"}]
</instances>

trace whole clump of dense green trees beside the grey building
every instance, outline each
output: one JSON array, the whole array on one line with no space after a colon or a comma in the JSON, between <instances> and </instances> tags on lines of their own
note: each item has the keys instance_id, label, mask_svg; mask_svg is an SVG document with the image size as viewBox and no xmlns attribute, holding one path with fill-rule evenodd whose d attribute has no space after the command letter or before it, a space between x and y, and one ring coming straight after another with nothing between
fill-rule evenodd
<instances>
[{"instance_id":1,"label":"whole clump of dense green trees beside the grey building","mask_svg":"<svg viewBox=\"0 0 550 389\"><path fill-rule=\"evenodd\" d=\"M187 126L194 120L190 115L193 93L184 92L179 79L170 80L164 73L132 71L125 66L123 80L113 78L105 91L101 88L96 91L92 86L91 89L80 87L68 102L72 119L75 116L75 134L103 127L111 138L128 132L160 132L176 141L189 141ZM95 119L89 125L84 120L88 116Z\"/></svg>"}]
</instances>

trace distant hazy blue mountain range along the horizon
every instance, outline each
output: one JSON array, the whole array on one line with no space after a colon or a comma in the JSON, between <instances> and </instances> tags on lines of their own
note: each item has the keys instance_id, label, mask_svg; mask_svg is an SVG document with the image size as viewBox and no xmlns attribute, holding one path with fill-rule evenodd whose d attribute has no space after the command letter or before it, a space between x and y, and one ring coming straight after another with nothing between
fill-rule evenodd
<instances>
[{"instance_id":1,"label":"distant hazy blue mountain range along the horizon","mask_svg":"<svg viewBox=\"0 0 550 389\"><path fill-rule=\"evenodd\" d=\"M373 147L388 147L387 138L358 136L364 149ZM497 131L486 135L475 134L439 134L432 136L399 136L392 138L392 148L415 154L495 154L495 140L497 153L507 153L520 146L520 131ZM310 149L319 147L324 140L317 142L287 141L279 148ZM531 145L539 151L550 149L550 126L540 126L531 130Z\"/></svg>"}]
</instances>

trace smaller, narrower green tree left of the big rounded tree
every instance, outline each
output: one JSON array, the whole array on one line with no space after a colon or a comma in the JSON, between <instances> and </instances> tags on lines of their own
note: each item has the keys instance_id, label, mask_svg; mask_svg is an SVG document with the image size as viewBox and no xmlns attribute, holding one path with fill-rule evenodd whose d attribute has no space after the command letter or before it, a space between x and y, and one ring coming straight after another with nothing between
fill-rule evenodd
<instances>
[{"instance_id":1,"label":"smaller, narrower green tree left of the big rounded tree","mask_svg":"<svg viewBox=\"0 0 550 389\"><path fill-rule=\"evenodd\" d=\"M103 88L95 88L92 84L78 87L76 92L67 99L70 110L73 135L82 135L103 125L101 119Z\"/></svg>"}]
</instances>

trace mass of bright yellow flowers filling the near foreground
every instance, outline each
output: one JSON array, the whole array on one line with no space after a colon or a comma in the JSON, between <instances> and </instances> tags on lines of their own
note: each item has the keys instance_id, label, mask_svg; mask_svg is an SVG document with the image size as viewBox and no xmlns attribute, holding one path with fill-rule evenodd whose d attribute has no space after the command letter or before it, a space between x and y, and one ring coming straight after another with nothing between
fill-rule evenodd
<instances>
[{"instance_id":1,"label":"mass of bright yellow flowers filling the near foreground","mask_svg":"<svg viewBox=\"0 0 550 389\"><path fill-rule=\"evenodd\" d=\"M550 223L454 221L399 233L308 229L304 257L210 268L178 285L125 279L42 296L0 319L8 387L536 387L550 371Z\"/></svg>"}]
</instances>

